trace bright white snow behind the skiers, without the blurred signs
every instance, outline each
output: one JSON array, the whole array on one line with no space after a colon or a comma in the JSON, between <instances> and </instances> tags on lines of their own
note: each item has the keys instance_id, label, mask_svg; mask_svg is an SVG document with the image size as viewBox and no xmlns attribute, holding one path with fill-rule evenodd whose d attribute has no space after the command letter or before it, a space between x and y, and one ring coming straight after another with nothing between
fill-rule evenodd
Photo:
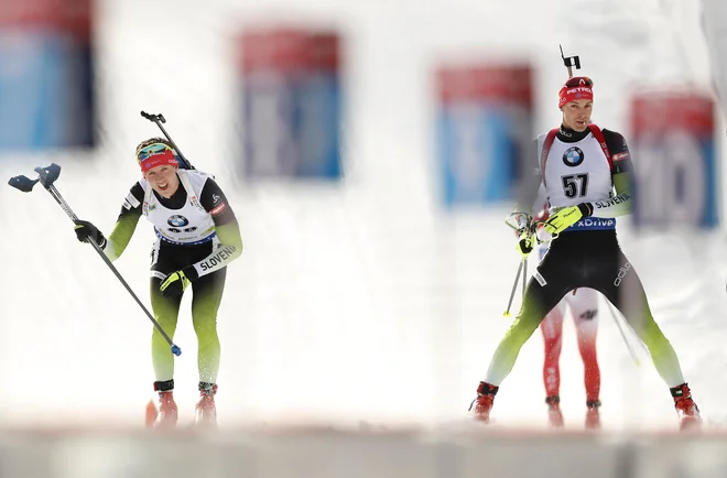
<instances>
[{"instance_id":1,"label":"bright white snow behind the skiers, without the blurred signs","mask_svg":"<svg viewBox=\"0 0 727 478\"><path fill-rule=\"evenodd\" d=\"M546 129L560 119L562 43L596 80L595 122L628 138L623 91L632 85L708 85L696 1L521 0L517 11L490 0L264 4L101 1L102 145L94 157L4 157L0 176L61 164L61 193L109 231L139 176L133 148L158 132L139 111L163 112L185 154L229 193L246 243L219 314L223 426L456 420L510 324L502 312L518 258L502 225L507 207L446 217L437 206L433 67L468 51L530 55L540 72L538 126ZM230 39L271 18L338 24L347 37L350 171L339 186L251 187L229 174L237 161ZM141 424L153 381L148 319L41 188L0 188L0 421ZM727 425L724 235L619 231L704 416ZM117 262L144 302L151 241L151 227L140 224ZM175 337L183 421L193 416L197 382L188 306L186 297ZM605 426L675 427L669 390L645 356L636 367L605 307L598 347ZM544 426L541 362L538 332L498 394L499 423ZM583 426L582 372L566 321L561 395L573 427Z\"/></svg>"}]
</instances>

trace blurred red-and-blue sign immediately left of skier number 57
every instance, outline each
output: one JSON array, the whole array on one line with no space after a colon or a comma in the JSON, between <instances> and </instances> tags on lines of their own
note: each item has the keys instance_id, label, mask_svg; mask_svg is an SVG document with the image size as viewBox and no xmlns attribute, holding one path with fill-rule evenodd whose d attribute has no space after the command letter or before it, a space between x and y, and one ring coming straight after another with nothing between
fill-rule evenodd
<instances>
[{"instance_id":1,"label":"blurred red-and-blue sign immediately left of skier number 57","mask_svg":"<svg viewBox=\"0 0 727 478\"><path fill-rule=\"evenodd\" d=\"M538 167L531 66L444 66L436 85L444 204L516 199L519 180Z\"/></svg>"}]
</instances>

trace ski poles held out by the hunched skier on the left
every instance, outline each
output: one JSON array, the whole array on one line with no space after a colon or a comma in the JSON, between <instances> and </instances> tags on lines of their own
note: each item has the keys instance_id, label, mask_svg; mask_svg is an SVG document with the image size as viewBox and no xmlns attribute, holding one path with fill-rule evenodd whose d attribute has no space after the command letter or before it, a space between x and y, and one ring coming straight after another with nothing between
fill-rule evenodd
<instances>
[{"instance_id":1,"label":"ski poles held out by the hunched skier on the left","mask_svg":"<svg viewBox=\"0 0 727 478\"><path fill-rule=\"evenodd\" d=\"M70 206L68 206L68 203L66 203L66 200L63 198L63 196L61 195L58 189L56 189L56 187L53 184L53 183L55 183L55 181L61 175L61 166L53 163L47 167L40 167L39 166L34 171L37 173L37 178L36 180L31 180L28 176L14 176L14 177L10 178L8 184L11 185L12 187L19 189L19 191L22 191L23 193L30 193L31 191L33 191L33 186L36 183L40 182L43 185L43 187L45 187L45 191L47 191L51 194L51 196L53 196L55 202L58 203L61 208L63 208L63 210L66 213L66 215L75 224L78 220L78 217L75 215L73 209L70 209ZM131 290L131 286L129 286L129 284L121 276L121 274L116 269L116 267L113 267L113 264L111 263L109 258L106 257L106 254L104 253L104 250L101 249L101 247L94 240L93 237L88 238L88 242L94 247L94 250L96 250L96 252L98 252L98 254L104 260L106 265L109 267L111 272L113 272L113 275L116 275L116 278L119 280L119 282L121 282L121 284L126 287L126 290L129 292L129 294L131 294L133 300L137 301L137 304L139 304L139 306L144 312L144 314L147 314L147 317L149 317L149 319L152 322L152 324L154 324L154 327L156 327L156 329L162 335L162 337L164 337L164 340L166 340L166 343L172 347L172 354L174 354L175 356L180 356L182 354L182 349L172 343L172 339L170 338L170 336L166 335L166 333L164 332L162 326L159 325L159 322L156 322L154 319L154 316L149 312L149 309L144 306L144 304L142 304L142 302L139 300L137 294Z\"/></svg>"}]
</instances>

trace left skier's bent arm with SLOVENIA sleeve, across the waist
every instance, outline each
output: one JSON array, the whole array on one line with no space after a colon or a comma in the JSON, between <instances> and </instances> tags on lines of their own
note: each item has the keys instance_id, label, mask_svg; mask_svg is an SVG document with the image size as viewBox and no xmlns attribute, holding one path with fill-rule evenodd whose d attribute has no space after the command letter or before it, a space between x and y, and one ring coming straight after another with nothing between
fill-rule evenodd
<instances>
[{"instance_id":1,"label":"left skier's bent arm with SLOVENIA sleeve, across the waist","mask_svg":"<svg viewBox=\"0 0 727 478\"><path fill-rule=\"evenodd\" d=\"M194 275L202 276L223 269L242 253L240 226L225 193L223 193L214 180L207 178L199 195L199 203L211 215L215 221L219 247L209 256L192 265L195 270L195 272L189 271L193 276L186 274L187 270L185 269L185 274L189 279L194 279Z\"/></svg>"}]
</instances>

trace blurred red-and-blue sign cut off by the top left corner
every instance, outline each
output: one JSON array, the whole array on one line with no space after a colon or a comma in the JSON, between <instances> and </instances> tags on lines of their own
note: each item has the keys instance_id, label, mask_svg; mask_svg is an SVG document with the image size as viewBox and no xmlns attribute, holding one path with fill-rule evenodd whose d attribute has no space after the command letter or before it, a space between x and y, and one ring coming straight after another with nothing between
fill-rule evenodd
<instances>
[{"instance_id":1,"label":"blurred red-and-blue sign cut off by the top left corner","mask_svg":"<svg viewBox=\"0 0 727 478\"><path fill-rule=\"evenodd\" d=\"M94 145L93 0L0 0L0 152Z\"/></svg>"}]
</instances>

